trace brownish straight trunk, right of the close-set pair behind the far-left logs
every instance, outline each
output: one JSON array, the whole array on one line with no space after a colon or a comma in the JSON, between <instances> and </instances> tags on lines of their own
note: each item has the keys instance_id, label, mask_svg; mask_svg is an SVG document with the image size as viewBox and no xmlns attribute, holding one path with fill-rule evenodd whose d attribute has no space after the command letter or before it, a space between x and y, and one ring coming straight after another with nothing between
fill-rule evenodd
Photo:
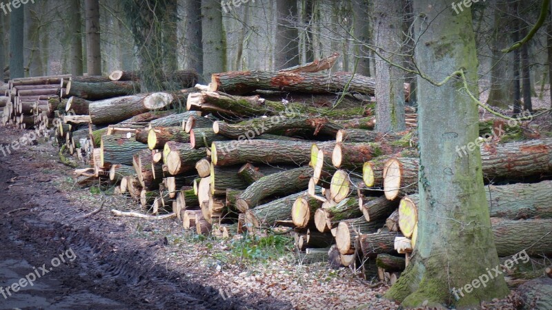
<instances>
[{"instance_id":1,"label":"brownish straight trunk, right of the close-set pair behind the far-left logs","mask_svg":"<svg viewBox=\"0 0 552 310\"><path fill-rule=\"evenodd\" d=\"M101 75L99 1L85 0L86 63L88 75Z\"/></svg>"}]
</instances>

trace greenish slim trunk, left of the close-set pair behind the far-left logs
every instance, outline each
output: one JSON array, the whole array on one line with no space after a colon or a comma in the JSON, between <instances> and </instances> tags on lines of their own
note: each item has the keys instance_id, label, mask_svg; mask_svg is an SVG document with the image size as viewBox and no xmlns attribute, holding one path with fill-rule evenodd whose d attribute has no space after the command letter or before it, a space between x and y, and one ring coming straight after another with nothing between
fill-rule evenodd
<instances>
[{"instance_id":1,"label":"greenish slim trunk, left of the close-set pair behind the far-left logs","mask_svg":"<svg viewBox=\"0 0 552 310\"><path fill-rule=\"evenodd\" d=\"M68 0L69 20L66 32L70 35L71 74L83 75L82 33L81 33L81 1Z\"/></svg>"}]
</instances>

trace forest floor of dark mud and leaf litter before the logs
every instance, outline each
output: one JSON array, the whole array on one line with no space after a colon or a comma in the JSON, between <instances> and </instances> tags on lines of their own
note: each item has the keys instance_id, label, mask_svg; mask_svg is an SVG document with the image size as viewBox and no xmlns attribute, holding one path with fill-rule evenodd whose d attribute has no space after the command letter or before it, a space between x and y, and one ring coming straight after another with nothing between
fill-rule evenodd
<instances>
[{"instance_id":1,"label":"forest floor of dark mud and leaf litter before the logs","mask_svg":"<svg viewBox=\"0 0 552 310\"><path fill-rule=\"evenodd\" d=\"M0 145L23 134L0 127ZM110 209L143 210L123 196L80 189L71 174L48 143L0 152L0 286L75 253L34 287L0 293L0 309L399 308L380 298L388 287L372 287L359 271L297 263L287 236L217 240L184 232L176 219L115 218Z\"/></svg>"}]
</instances>

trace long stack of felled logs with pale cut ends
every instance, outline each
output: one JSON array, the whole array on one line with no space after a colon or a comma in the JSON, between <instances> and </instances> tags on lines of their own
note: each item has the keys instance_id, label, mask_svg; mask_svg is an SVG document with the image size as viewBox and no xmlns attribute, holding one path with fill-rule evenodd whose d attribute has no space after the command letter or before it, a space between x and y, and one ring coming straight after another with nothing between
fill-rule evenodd
<instances>
[{"instance_id":1,"label":"long stack of felled logs with pale cut ends","mask_svg":"<svg viewBox=\"0 0 552 310\"><path fill-rule=\"evenodd\" d=\"M183 90L150 94L139 93L137 72L19 79L10 81L3 119L59 124L62 150L90 165L75 170L80 185L115 186L150 214L117 216L176 217L184 229L222 238L290 227L304 258L375 261L393 282L417 236L417 114L406 108L404 132L373 131L375 81L319 73L338 56L213 74L207 86L192 87L193 72L179 72L170 79ZM552 138L491 143L482 162L486 180L533 180L486 187L499 255L526 245L530 255L552 254L552 239L542 238L552 230L552 181L538 183L552 173Z\"/></svg>"}]
</instances>

